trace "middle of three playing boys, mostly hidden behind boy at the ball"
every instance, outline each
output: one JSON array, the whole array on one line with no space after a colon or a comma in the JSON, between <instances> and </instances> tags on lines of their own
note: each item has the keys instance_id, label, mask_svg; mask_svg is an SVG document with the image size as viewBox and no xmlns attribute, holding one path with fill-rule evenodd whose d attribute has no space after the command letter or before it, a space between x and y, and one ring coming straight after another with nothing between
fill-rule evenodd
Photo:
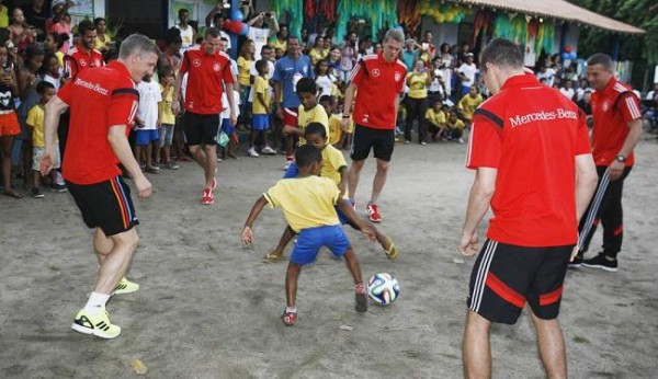
<instances>
[{"instance_id":1,"label":"middle of three playing boys, mostly hidden behind boy at the ball","mask_svg":"<svg viewBox=\"0 0 658 379\"><path fill-rule=\"evenodd\" d=\"M342 152L336 149L333 146L327 143L327 133L322 124L310 123L304 129L304 131L306 141L314 145L321 152L322 162L320 164L320 176L331 179L340 190L339 202L351 206L350 200L344 196L348 186L348 163L345 162L345 158L343 157ZM350 218L342 213L340 207L337 206L336 211L341 225L349 223L352 228L360 230L359 225L351 222ZM375 238L379 244L382 244L382 249L384 249L386 256L389 260L395 260L398 255L398 251L395 248L393 240L382 234L374 226L368 225L368 227L375 233ZM274 263L282 261L283 251L293 237L295 237L295 231L291 228L291 226L287 226L283 231L276 248L263 257L264 262Z\"/></svg>"}]
</instances>

